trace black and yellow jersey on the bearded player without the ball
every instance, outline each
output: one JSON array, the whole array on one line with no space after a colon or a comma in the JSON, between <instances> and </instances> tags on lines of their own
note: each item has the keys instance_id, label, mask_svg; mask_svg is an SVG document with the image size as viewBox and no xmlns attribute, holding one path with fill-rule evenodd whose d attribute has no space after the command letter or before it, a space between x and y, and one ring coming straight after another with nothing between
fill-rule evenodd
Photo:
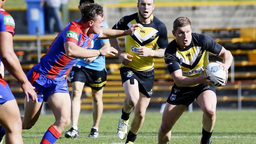
<instances>
[{"instance_id":1,"label":"black and yellow jersey on the bearded player without the ball","mask_svg":"<svg viewBox=\"0 0 256 144\"><path fill-rule=\"evenodd\" d=\"M125 67L144 71L153 68L154 58L151 56L140 57L137 54L139 46L145 46L151 50L166 48L168 44L167 29L165 24L152 15L150 24L143 24L139 21L139 13L122 17L119 22L113 26L115 30L128 30L132 24L141 24L143 29L138 28L132 35L125 36L125 52L132 55L132 61ZM124 67L124 65L121 65Z\"/></svg>"}]
</instances>

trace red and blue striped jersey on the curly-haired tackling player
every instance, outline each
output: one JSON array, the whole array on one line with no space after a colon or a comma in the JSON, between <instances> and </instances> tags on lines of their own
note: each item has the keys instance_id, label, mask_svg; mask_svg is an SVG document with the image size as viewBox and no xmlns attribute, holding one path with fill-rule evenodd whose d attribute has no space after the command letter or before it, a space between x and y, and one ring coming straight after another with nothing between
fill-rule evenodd
<instances>
[{"instance_id":1,"label":"red and blue striped jersey on the curly-haired tackling player","mask_svg":"<svg viewBox=\"0 0 256 144\"><path fill-rule=\"evenodd\" d=\"M69 22L49 46L46 54L33 68L41 75L60 81L65 79L70 68L76 63L76 58L65 53L64 43L74 42L87 49L98 34L86 35L81 22Z\"/></svg>"}]
</instances>

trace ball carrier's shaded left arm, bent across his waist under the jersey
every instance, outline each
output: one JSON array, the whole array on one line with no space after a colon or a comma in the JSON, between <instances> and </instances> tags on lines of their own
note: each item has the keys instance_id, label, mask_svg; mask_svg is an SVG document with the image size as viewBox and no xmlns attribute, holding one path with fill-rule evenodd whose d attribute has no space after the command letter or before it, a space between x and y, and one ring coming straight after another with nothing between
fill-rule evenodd
<instances>
[{"instance_id":1,"label":"ball carrier's shaded left arm, bent across his waist under the jersey","mask_svg":"<svg viewBox=\"0 0 256 144\"><path fill-rule=\"evenodd\" d=\"M171 76L173 77L174 83L178 87L189 87L191 85L197 85L200 83L206 83L208 85L211 85L211 81L208 79L210 78L210 76L205 76L203 70L200 73L200 76L196 78L188 78L186 76L182 76L181 69L171 73Z\"/></svg>"}]
</instances>

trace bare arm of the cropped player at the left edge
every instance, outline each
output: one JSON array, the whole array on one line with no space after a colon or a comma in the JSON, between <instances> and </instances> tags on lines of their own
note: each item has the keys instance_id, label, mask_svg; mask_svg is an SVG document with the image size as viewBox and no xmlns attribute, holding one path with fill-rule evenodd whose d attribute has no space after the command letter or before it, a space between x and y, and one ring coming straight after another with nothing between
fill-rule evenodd
<instances>
[{"instance_id":1,"label":"bare arm of the cropped player at the left edge","mask_svg":"<svg viewBox=\"0 0 256 144\"><path fill-rule=\"evenodd\" d=\"M13 50L13 35L6 31L0 32L0 58L4 63L8 72L13 75L21 83L21 88L26 95L26 100L29 101L29 95L32 101L37 102L37 94L35 93L35 87L28 81L24 74L18 57Z\"/></svg>"}]
</instances>

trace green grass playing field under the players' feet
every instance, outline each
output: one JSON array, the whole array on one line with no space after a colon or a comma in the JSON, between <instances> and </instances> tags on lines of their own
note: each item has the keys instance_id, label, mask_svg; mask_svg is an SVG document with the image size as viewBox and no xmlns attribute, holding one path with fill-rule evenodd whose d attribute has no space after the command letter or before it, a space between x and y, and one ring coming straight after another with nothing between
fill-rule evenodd
<instances>
[{"instance_id":1,"label":"green grass playing field under the players' feet","mask_svg":"<svg viewBox=\"0 0 256 144\"><path fill-rule=\"evenodd\" d=\"M64 135L56 144L123 144L116 135L119 113L104 113L100 122L99 138L87 138L92 125L92 114L81 114L79 120L80 138L68 139ZM133 118L133 113L130 120ZM173 127L170 144L198 144L202 131L202 112L185 112ZM25 144L41 141L46 129L54 122L52 114L41 115L32 129L22 133ZM131 122L131 121L130 121ZM137 144L156 144L161 113L148 112L143 127L137 136ZM67 129L69 129L67 127ZM130 128L130 127L129 127ZM66 130L67 130L66 129ZM256 110L220 110L211 140L213 144L256 144Z\"/></svg>"}]
</instances>

